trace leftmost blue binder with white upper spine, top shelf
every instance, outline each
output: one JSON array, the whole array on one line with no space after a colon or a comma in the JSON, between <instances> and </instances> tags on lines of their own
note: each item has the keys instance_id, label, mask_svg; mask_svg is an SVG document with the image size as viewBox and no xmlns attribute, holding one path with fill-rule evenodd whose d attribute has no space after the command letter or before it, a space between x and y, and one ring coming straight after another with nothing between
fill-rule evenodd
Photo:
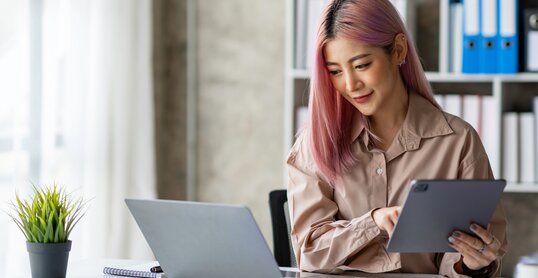
<instances>
[{"instance_id":1,"label":"leftmost blue binder with white upper spine, top shelf","mask_svg":"<svg viewBox=\"0 0 538 278\"><path fill-rule=\"evenodd\" d=\"M479 0L463 1L463 73L478 73L480 39L480 2Z\"/></svg>"}]
</instances>

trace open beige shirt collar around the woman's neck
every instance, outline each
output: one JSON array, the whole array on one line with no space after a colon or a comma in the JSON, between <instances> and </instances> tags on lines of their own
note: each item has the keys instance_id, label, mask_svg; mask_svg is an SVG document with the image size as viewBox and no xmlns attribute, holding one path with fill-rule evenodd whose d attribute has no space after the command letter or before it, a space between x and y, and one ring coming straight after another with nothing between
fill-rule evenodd
<instances>
[{"instance_id":1,"label":"open beige shirt collar around the woman's neck","mask_svg":"<svg viewBox=\"0 0 538 278\"><path fill-rule=\"evenodd\" d=\"M368 147L369 136L367 136L361 117L360 113L355 113L351 133L352 142L361 137L364 145ZM397 144L392 143L392 146L387 150L387 155L397 156L398 153L403 151L416 150L420 145L420 140L423 138L443 136L453 132L439 108L418 93L410 92L405 120L396 138L394 138L394 140L397 140ZM392 155L389 153L392 153Z\"/></svg>"}]
</instances>

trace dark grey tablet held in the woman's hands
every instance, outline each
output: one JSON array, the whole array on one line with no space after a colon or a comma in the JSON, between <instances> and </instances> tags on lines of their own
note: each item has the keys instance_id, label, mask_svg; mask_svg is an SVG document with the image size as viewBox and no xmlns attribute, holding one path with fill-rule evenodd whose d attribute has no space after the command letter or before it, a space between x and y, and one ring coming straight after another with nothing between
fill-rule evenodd
<instances>
[{"instance_id":1,"label":"dark grey tablet held in the woman's hands","mask_svg":"<svg viewBox=\"0 0 538 278\"><path fill-rule=\"evenodd\" d=\"M414 180L387 251L457 252L448 245L455 230L473 235L469 226L487 227L505 180Z\"/></svg>"}]
</instances>

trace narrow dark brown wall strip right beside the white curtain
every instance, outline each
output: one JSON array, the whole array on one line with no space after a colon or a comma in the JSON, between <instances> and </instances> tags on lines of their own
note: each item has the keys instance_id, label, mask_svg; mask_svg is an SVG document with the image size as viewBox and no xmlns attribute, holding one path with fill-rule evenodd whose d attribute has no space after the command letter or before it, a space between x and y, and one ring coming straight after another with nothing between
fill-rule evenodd
<instances>
[{"instance_id":1,"label":"narrow dark brown wall strip right beside the white curtain","mask_svg":"<svg viewBox=\"0 0 538 278\"><path fill-rule=\"evenodd\" d=\"M187 1L153 5L153 88L157 191L163 199L186 197Z\"/></svg>"}]
</instances>

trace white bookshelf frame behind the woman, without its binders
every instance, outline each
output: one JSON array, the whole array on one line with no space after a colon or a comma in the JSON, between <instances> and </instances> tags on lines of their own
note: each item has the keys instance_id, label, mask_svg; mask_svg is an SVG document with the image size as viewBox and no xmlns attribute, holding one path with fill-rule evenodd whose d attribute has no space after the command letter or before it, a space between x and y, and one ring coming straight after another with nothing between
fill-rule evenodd
<instances>
[{"instance_id":1,"label":"white bookshelf frame behind the woman, without its binders","mask_svg":"<svg viewBox=\"0 0 538 278\"><path fill-rule=\"evenodd\" d=\"M298 5L299 1L301 0L287 0L284 155L287 155L294 142L297 129L297 110L301 106L308 105L310 70L295 66L297 61L295 43L297 39L297 12L298 6L302 7L304 5ZM527 0L521 1L525 2ZM502 154L503 147L505 147L502 138L502 132L505 128L503 126L503 115L507 112L532 111L532 100L535 96L538 96L538 73L502 75L450 72L450 0L408 0L407 2L409 3L407 9L413 11L407 14L419 17L421 16L421 10L426 10L430 14L429 16L421 16L420 20L418 20L419 18L408 18L405 22L406 24L410 22L414 24L413 26L408 26L408 28L417 34L417 37L414 38L415 45L423 59L426 76L435 94L481 95L491 98L495 112L488 115L487 118L495 129L497 140L493 144L494 147L490 147L492 148L491 152L494 152L495 155L490 155L490 151L488 151L488 155L490 155L490 159L497 157L496 159L494 158L496 161L492 161L492 168L496 177L503 178L502 160L504 158ZM424 23L424 21L428 20L429 22ZM432 45L434 47L429 47ZM535 131L535 134L538 134L538 132ZM488 148L486 149L488 150ZM538 193L538 182L521 183L509 181L505 192Z\"/></svg>"}]
</instances>

